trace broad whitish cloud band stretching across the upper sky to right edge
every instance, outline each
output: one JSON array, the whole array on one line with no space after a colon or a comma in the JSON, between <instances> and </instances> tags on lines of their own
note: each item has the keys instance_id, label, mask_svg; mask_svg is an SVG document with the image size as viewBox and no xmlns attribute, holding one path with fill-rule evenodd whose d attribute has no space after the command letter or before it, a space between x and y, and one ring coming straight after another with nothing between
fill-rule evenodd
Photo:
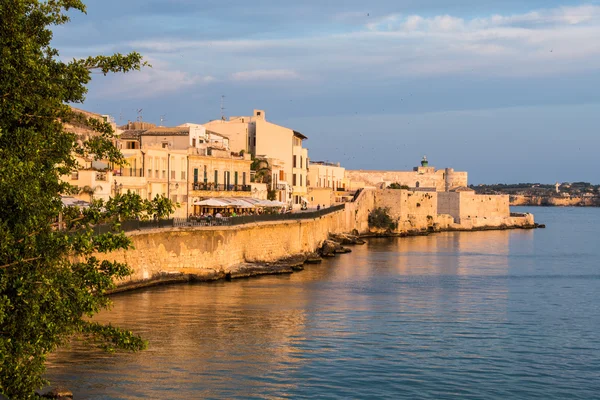
<instances>
[{"instance_id":1,"label":"broad whitish cloud band stretching across the upper sky to right edge","mask_svg":"<svg viewBox=\"0 0 600 400\"><path fill-rule=\"evenodd\" d=\"M521 14L456 15L362 13L335 15L348 32L314 30L279 38L141 39L126 45L165 65L127 75L125 85L174 91L211 81L393 79L459 73L537 76L600 68L600 6L557 7ZM366 21L367 19L364 19ZM344 22L345 21L345 22ZM183 64L182 61L186 63ZM155 64L155 63L154 63ZM178 65L171 68L168 65ZM199 75L201 71L202 75ZM115 90L119 90L117 87Z\"/></svg>"}]
</instances>

